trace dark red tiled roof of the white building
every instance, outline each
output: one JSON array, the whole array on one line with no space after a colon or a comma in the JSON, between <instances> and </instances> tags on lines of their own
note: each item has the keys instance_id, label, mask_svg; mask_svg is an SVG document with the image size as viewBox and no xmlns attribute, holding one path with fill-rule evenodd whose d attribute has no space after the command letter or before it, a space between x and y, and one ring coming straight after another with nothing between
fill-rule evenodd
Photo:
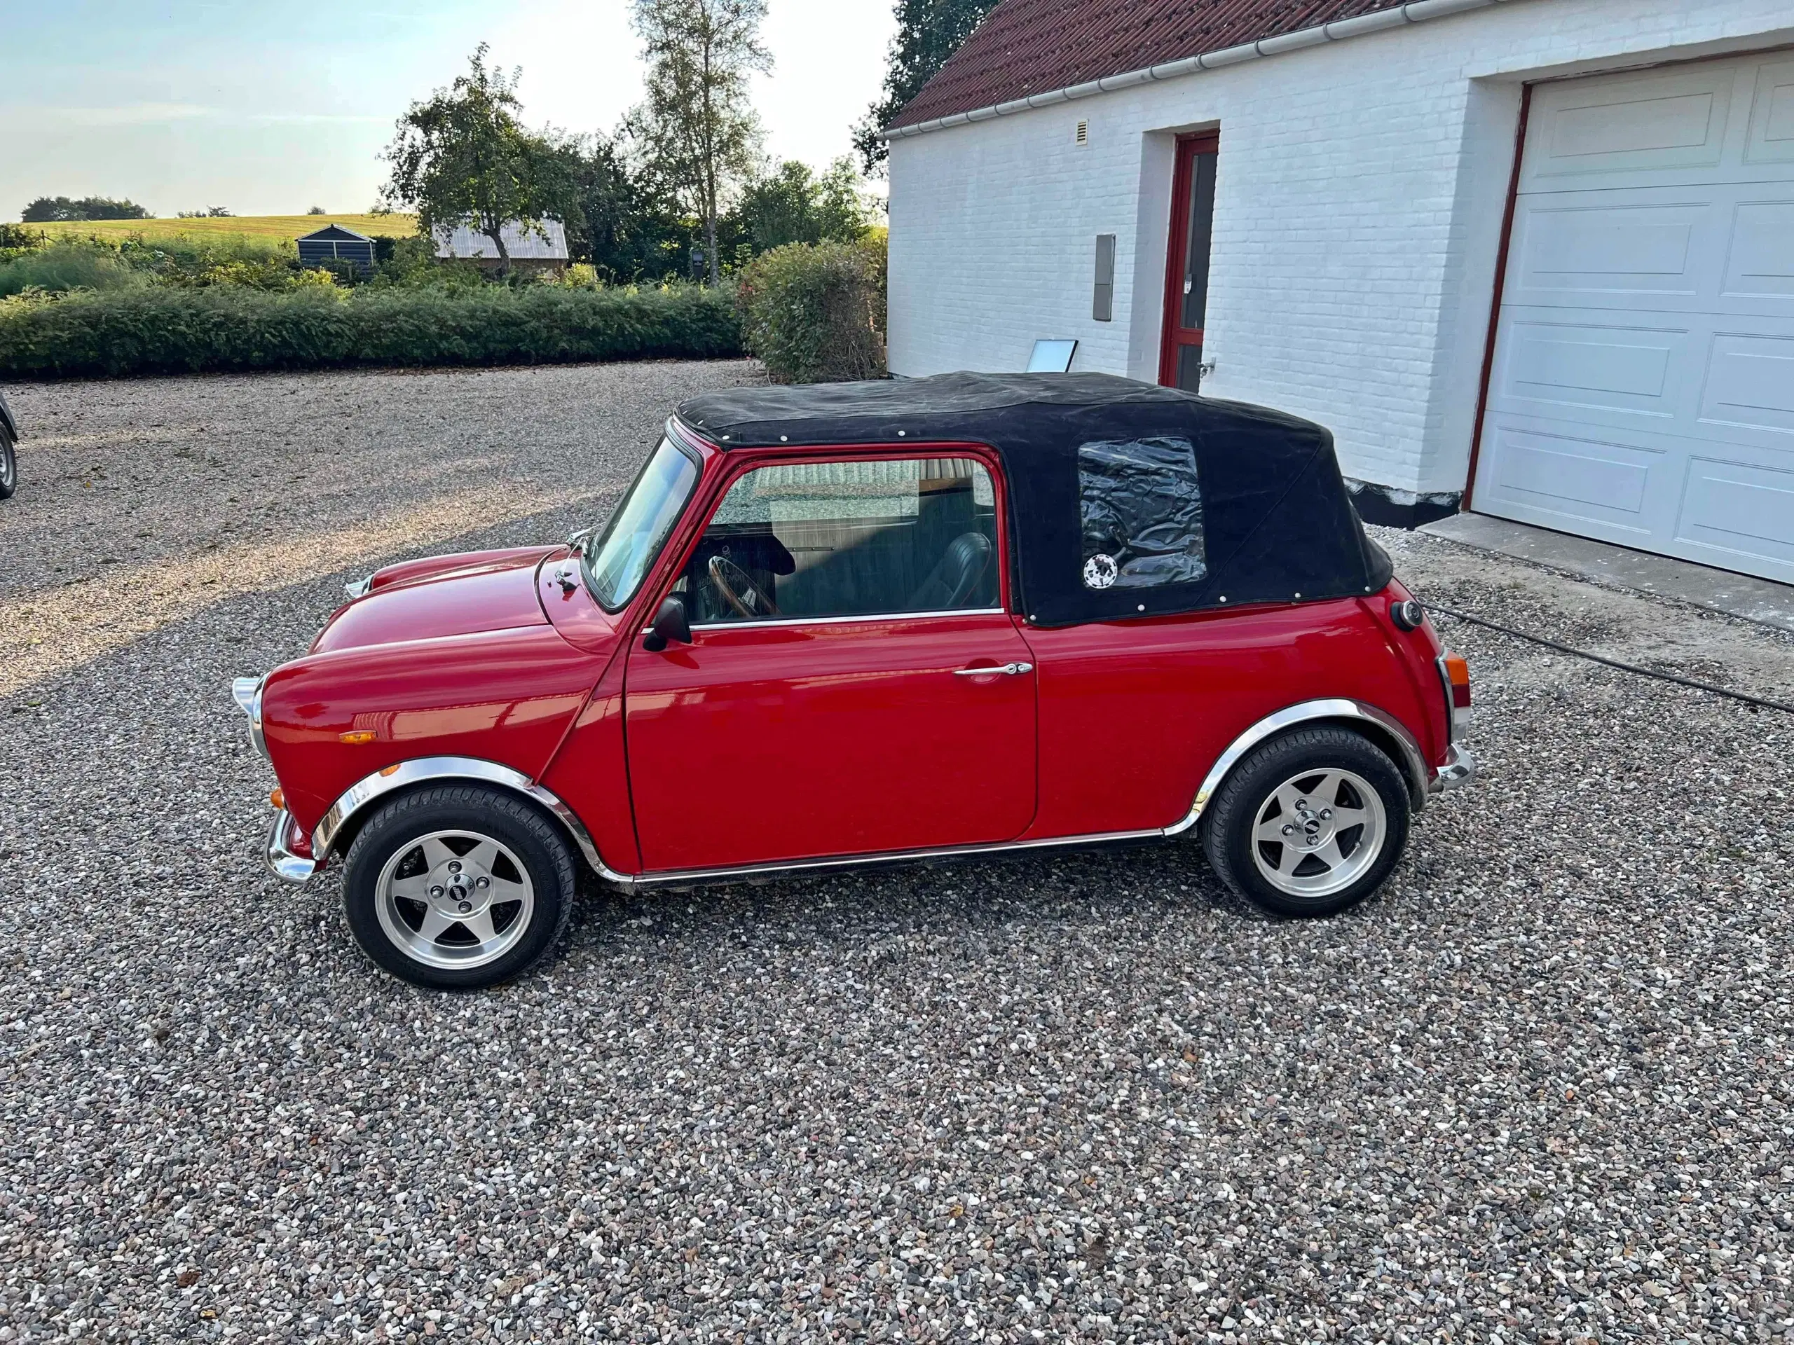
<instances>
[{"instance_id":1,"label":"dark red tiled roof of the white building","mask_svg":"<svg viewBox=\"0 0 1794 1345\"><path fill-rule=\"evenodd\" d=\"M1396 0L1003 0L892 127L1392 9Z\"/></svg>"}]
</instances>

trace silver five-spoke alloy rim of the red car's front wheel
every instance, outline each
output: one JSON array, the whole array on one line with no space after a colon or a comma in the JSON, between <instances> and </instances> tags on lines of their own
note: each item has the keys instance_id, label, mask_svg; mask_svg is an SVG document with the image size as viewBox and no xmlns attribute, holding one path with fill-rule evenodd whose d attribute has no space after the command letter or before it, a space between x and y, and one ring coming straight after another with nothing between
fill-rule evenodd
<instances>
[{"instance_id":1,"label":"silver five-spoke alloy rim of the red car's front wheel","mask_svg":"<svg viewBox=\"0 0 1794 1345\"><path fill-rule=\"evenodd\" d=\"M447 830L407 841L373 889L380 929L413 961L468 970L497 961L529 931L536 889L504 845Z\"/></svg>"}]
</instances>

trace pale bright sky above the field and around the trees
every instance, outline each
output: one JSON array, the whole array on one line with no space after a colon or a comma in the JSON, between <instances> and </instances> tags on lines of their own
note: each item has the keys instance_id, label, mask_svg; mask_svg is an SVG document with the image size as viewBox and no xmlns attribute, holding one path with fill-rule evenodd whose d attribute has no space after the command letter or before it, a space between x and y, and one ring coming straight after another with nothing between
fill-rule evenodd
<instances>
[{"instance_id":1,"label":"pale bright sky above the field and around the trees","mask_svg":"<svg viewBox=\"0 0 1794 1345\"><path fill-rule=\"evenodd\" d=\"M0 0L0 219L38 195L368 210L413 99L481 41L522 66L524 120L610 129L640 97L628 0ZM318 18L305 22L307 14ZM825 167L877 97L892 0L768 0L753 100L775 160Z\"/></svg>"}]
</instances>

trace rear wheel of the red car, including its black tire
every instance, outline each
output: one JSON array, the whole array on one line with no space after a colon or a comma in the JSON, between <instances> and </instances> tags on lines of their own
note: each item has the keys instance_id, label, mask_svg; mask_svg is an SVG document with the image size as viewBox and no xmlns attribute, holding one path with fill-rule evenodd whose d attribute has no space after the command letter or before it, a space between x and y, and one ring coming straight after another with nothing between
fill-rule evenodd
<instances>
[{"instance_id":1,"label":"rear wheel of the red car, including its black tire","mask_svg":"<svg viewBox=\"0 0 1794 1345\"><path fill-rule=\"evenodd\" d=\"M1365 787L1374 800L1360 798ZM1281 789L1304 794L1293 802L1308 811L1293 811ZM1216 877L1254 906L1283 916L1326 916L1383 886L1408 843L1408 785L1389 753L1362 733L1326 725L1247 755L1204 816L1202 845ZM1337 825L1337 818L1354 816L1363 821ZM1285 832L1293 839L1283 841ZM1319 845L1306 852L1310 839ZM1376 848L1360 852L1363 845ZM1267 870L1277 870L1277 879ZM1304 884L1310 889L1290 889Z\"/></svg>"}]
</instances>

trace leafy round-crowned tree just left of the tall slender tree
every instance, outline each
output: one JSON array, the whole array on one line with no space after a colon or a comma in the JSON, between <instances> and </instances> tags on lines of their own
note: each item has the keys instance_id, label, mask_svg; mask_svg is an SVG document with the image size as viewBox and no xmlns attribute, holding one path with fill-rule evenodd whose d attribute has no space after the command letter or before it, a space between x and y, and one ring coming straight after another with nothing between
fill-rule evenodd
<instances>
[{"instance_id":1,"label":"leafy round-crowned tree just left of the tall slender tree","mask_svg":"<svg viewBox=\"0 0 1794 1345\"><path fill-rule=\"evenodd\" d=\"M393 165L386 203L414 208L423 237L472 224L492 239L506 276L504 226L545 233L542 221L563 219L572 197L554 145L517 118L520 77L522 70L488 70L481 43L452 88L411 104L386 149Z\"/></svg>"}]
</instances>

